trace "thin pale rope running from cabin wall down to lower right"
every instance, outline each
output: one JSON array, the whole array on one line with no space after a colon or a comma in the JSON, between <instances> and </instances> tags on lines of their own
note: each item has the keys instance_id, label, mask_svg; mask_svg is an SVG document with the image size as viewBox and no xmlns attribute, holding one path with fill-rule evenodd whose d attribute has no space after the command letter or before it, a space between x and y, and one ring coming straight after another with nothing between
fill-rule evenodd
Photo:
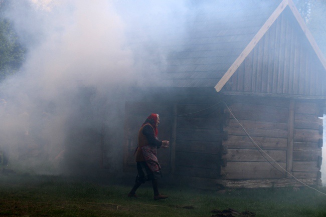
<instances>
[{"instance_id":1,"label":"thin pale rope running from cabin wall down to lower right","mask_svg":"<svg viewBox=\"0 0 326 217\"><path fill-rule=\"evenodd\" d=\"M231 109L229 108L229 106L225 103L225 102L218 102L218 103L216 103L216 104L214 104L214 105L212 105L212 106L210 106L210 107L208 107L208 108L205 108L205 109L202 109L202 110L199 110L199 111L197 111L197 112L193 112L193 113L189 113L189 114L183 114L183 115L178 115L178 116L186 116L186 115L191 115L191 114L196 114L196 113L199 113L199 112L201 112L201 111L205 111L205 110L207 110L207 109L210 109L210 108L212 108L212 107L214 107L214 106L216 106L216 105L218 105L218 104L220 104L220 103L223 103L225 106L226 106L226 108L230 111L230 114L233 116L233 118L238 122L238 124L241 126L241 128L243 129L243 131L246 133L246 135L249 137L249 139L250 139L250 141L256 146L256 148L258 149L258 151L259 151L259 153L267 160L267 162L270 164L270 165L272 165L275 169L277 169L262 153L261 153L261 151L264 153L264 154L266 154L276 165L278 165L284 172L285 172L285 174L287 173L287 174L289 174L291 177L293 177L294 178L294 180L296 180L297 182L299 182L299 183L301 183L301 184L303 184L304 186L306 186L306 187L308 187L308 188L311 188L311 189L313 189L313 190L315 190L315 191L317 191L317 192L319 192L319 193L321 193L321 194L323 194L323 195L326 195L326 193L324 193L324 192L321 192L321 191L319 191L319 190L317 190L316 188L313 188L313 187L311 187L311 186L309 186L309 185L307 185L307 184L305 184L304 182L302 182L302 181L300 181L299 179L297 179L296 177L294 177L290 172L288 172L286 169L284 169L279 163L277 163L269 154L267 154L256 142L255 142L255 140L250 136L250 134L247 132L247 130L242 126L242 124L240 123L240 121L235 117L235 115L233 114L233 112L231 111ZM277 169L279 172L281 172L279 169ZM282 174L284 174L283 172L281 172Z\"/></svg>"}]
</instances>

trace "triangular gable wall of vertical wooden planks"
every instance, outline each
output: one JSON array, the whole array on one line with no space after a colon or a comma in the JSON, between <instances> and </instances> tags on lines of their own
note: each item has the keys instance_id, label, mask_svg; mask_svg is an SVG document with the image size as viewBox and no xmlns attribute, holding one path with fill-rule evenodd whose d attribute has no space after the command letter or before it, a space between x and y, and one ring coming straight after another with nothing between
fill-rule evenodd
<instances>
[{"instance_id":1,"label":"triangular gable wall of vertical wooden planks","mask_svg":"<svg viewBox=\"0 0 326 217\"><path fill-rule=\"evenodd\" d=\"M325 69L289 9L270 27L229 81L229 90L322 96Z\"/></svg>"}]
</instances>

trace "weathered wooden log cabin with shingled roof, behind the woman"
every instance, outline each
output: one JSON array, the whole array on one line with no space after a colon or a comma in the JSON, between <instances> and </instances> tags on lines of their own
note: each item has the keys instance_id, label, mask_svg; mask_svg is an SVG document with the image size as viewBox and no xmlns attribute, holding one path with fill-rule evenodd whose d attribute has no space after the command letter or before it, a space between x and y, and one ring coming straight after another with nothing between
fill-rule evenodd
<instances>
[{"instance_id":1,"label":"weathered wooden log cabin with shingled roof, behind the woman","mask_svg":"<svg viewBox=\"0 0 326 217\"><path fill-rule=\"evenodd\" d=\"M321 185L326 60L292 0L218 1L187 23L160 85L125 103L123 171L160 115L162 172L193 186ZM210 3L211 4L211 3Z\"/></svg>"}]
</instances>

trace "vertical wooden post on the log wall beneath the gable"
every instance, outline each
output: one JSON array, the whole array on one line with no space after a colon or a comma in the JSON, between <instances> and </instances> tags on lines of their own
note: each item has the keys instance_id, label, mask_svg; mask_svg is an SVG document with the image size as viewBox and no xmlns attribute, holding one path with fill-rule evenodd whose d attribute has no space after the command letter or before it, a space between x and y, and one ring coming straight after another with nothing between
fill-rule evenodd
<instances>
[{"instance_id":1,"label":"vertical wooden post on the log wall beneath the gable","mask_svg":"<svg viewBox=\"0 0 326 217\"><path fill-rule=\"evenodd\" d=\"M288 130L287 130L287 150L286 150L286 171L292 174L293 164L293 137L294 137L294 100L290 100L289 105L289 119L288 119ZM287 178L291 178L286 173Z\"/></svg>"}]
</instances>

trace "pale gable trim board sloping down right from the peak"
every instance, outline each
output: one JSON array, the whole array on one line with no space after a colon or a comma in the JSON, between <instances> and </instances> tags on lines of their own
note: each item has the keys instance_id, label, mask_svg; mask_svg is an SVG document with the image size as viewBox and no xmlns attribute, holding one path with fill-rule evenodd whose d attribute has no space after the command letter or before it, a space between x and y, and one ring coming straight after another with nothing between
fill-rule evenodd
<instances>
[{"instance_id":1,"label":"pale gable trim board sloping down right from the peak","mask_svg":"<svg viewBox=\"0 0 326 217\"><path fill-rule=\"evenodd\" d=\"M314 40L313 36L311 35L310 31L308 30L306 24L304 23L300 13L298 12L298 10L296 9L294 3L292 2L292 0L288 0L288 6L291 9L295 19L297 20L297 22L299 23L303 33L305 34L305 36L307 37L312 49L314 50L314 52L316 53L318 59L320 60L320 63L322 64L322 66L324 67L324 69L326 70L326 59L323 56L323 54L321 53L316 41Z\"/></svg>"}]
</instances>

